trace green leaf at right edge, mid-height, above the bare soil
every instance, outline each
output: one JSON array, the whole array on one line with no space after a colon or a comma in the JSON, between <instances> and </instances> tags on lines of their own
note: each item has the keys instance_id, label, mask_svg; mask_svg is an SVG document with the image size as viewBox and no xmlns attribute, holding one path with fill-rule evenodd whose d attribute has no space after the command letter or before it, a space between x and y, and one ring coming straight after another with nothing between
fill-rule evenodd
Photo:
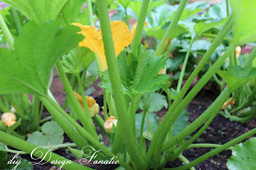
<instances>
[{"instance_id":1,"label":"green leaf at right edge, mid-height, above the bare soil","mask_svg":"<svg viewBox=\"0 0 256 170\"><path fill-rule=\"evenodd\" d=\"M227 71L219 70L217 74L220 75L228 84L229 91L233 92L241 85L244 85L250 80L256 78L256 68L241 68L240 65L229 66Z\"/></svg>"}]
</instances>

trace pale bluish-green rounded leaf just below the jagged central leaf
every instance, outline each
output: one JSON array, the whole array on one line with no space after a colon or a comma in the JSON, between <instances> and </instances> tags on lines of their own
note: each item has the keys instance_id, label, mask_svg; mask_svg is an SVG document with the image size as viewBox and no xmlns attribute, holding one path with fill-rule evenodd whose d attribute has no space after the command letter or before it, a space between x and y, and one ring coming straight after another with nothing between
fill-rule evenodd
<instances>
[{"instance_id":1,"label":"pale bluish-green rounded leaf just below the jagged central leaf","mask_svg":"<svg viewBox=\"0 0 256 170\"><path fill-rule=\"evenodd\" d=\"M161 95L158 93L151 93L148 99L148 103L150 105L148 109L149 112L158 112L163 107L167 108L168 106L165 95ZM144 109L144 102L142 100L139 104L139 108L142 110Z\"/></svg>"}]
</instances>

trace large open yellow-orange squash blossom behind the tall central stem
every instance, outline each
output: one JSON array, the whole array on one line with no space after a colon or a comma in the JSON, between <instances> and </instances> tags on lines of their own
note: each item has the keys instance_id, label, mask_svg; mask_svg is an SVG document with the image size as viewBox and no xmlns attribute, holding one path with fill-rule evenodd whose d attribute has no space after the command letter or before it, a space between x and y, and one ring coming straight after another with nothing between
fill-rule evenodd
<instances>
[{"instance_id":1,"label":"large open yellow-orange squash blossom behind the tall central stem","mask_svg":"<svg viewBox=\"0 0 256 170\"><path fill-rule=\"evenodd\" d=\"M90 25L80 25L79 23L73 23L72 25L79 26L81 28L81 31L78 34L85 36L85 38L80 42L79 45L88 47L98 56L102 72L108 69L101 30L99 31L98 29ZM135 35L136 26L137 24L133 25L130 34L129 27L122 21L111 22L112 40L116 56L118 56L122 52L124 47L132 43L133 37Z\"/></svg>"}]
</instances>

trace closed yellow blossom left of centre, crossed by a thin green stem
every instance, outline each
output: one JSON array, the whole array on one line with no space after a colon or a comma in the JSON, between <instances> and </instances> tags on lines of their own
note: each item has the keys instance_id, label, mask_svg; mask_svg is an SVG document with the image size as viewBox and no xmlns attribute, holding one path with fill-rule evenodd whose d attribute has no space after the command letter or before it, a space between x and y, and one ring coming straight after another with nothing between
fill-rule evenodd
<instances>
[{"instance_id":1,"label":"closed yellow blossom left of centre, crossed by a thin green stem","mask_svg":"<svg viewBox=\"0 0 256 170\"><path fill-rule=\"evenodd\" d=\"M74 92L74 94L76 95L78 101L80 102L82 109L84 109L82 97L79 94L77 94L76 92ZM94 117L95 115L97 115L99 113L100 106L96 103L96 100L93 97L86 96L85 98L86 98L87 104L89 106L90 114L92 117Z\"/></svg>"}]
</instances>

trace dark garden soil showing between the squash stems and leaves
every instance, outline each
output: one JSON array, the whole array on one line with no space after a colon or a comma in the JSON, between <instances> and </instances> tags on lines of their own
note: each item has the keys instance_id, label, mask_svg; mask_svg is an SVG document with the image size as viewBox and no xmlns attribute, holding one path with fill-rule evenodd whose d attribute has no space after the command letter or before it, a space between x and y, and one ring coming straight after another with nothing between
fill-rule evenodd
<instances>
[{"instance_id":1,"label":"dark garden soil showing between the squash stems and leaves","mask_svg":"<svg viewBox=\"0 0 256 170\"><path fill-rule=\"evenodd\" d=\"M56 99L60 104L62 104L65 100L65 94L56 94ZM99 105L102 105L102 96L101 95L94 95L94 97L97 100L97 103ZM208 105L211 104L212 101L217 97L217 95L213 94L210 91L204 91L197 95L197 97L190 103L190 105L187 106L187 110L190 112L190 119L189 122L193 122L198 115L202 114L208 107ZM159 116L159 121L163 119L163 116L165 115L166 110L162 110L157 115ZM48 116L48 113L44 114L44 117ZM229 119L217 115L216 118L213 120L213 122L208 126L208 129L206 132L204 132L198 139L195 141L195 143L211 143L211 144L225 144L226 142L229 142L229 140L242 135L252 128L255 127L256 120L251 120L251 122L247 124L241 124L238 122L232 122ZM97 127L97 132L101 133L101 130ZM108 139L106 136L103 135L103 142L105 145L109 145ZM67 135L65 135L64 142L69 143L72 142ZM208 153L211 149L210 148L191 148L187 149L183 155L187 157L189 161L194 160L195 158L199 157L200 155L204 155ZM68 149L59 149L57 151L54 151L55 153L62 155L64 157L69 158L70 160L73 160L75 162L78 162L79 159L76 158L74 155L72 155ZM202 162L201 164L196 166L196 169L202 169L202 170L215 170L215 169L228 169L227 168L227 160L229 159L231 155L231 151L224 151L219 153L219 155L215 155L208 159L205 162ZM32 161L29 155L23 155L24 158L27 158L28 160ZM182 165L182 162L179 160L176 160L172 163L168 163L165 167L176 167ZM114 169L116 166L113 165L87 165L93 169L99 169L99 170L107 170L107 169ZM55 170L58 169L55 165L45 164L45 165L35 165L34 169L36 170Z\"/></svg>"}]
</instances>

